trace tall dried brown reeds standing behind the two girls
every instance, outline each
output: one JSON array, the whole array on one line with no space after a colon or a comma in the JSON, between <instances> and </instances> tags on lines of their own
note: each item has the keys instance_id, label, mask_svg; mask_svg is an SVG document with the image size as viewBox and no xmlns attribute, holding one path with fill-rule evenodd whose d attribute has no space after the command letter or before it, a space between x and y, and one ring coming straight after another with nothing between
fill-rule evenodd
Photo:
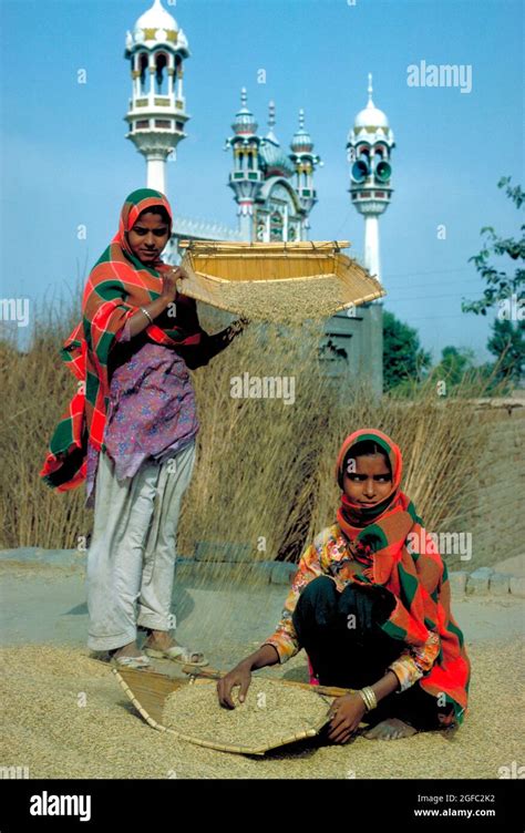
<instances>
[{"instance_id":1,"label":"tall dried brown reeds standing behind the two girls","mask_svg":"<svg viewBox=\"0 0 525 833\"><path fill-rule=\"evenodd\" d=\"M92 513L84 508L84 490L58 495L38 476L75 390L59 349L76 320L76 307L74 301L37 313L28 352L0 342L3 547L85 551ZM225 326L226 315L218 310L203 305L199 315L209 332ZM471 391L460 388L442 398L435 384L414 385L405 399L381 400L357 383L349 391L349 380L328 378L319 359L321 336L322 325L253 325L194 373L200 432L179 525L182 554L192 555L199 542L208 551L218 544L217 553L231 543L244 553L248 546L248 561L297 559L305 543L333 520L340 443L366 425L384 430L401 446L404 490L428 528L470 528L490 430L473 413ZM507 495L502 505L502 516L515 518L508 523L519 517L517 480L516 469L512 501ZM492 556L497 559L497 553ZM243 562L238 567L241 578Z\"/></svg>"}]
</instances>

